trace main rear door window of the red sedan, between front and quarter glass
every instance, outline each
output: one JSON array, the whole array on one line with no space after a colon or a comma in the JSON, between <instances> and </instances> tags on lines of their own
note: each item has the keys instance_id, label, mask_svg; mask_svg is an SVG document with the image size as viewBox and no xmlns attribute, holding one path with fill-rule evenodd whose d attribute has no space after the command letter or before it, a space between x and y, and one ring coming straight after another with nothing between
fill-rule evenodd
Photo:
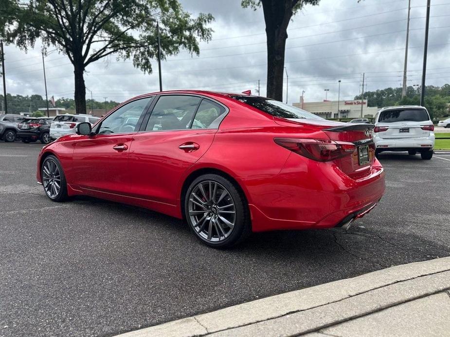
<instances>
[{"instance_id":1,"label":"main rear door window of the red sedan, between front and quarter glass","mask_svg":"<svg viewBox=\"0 0 450 337\"><path fill-rule=\"evenodd\" d=\"M152 110L145 131L190 129L200 100L197 96L161 96Z\"/></svg>"}]
</instances>

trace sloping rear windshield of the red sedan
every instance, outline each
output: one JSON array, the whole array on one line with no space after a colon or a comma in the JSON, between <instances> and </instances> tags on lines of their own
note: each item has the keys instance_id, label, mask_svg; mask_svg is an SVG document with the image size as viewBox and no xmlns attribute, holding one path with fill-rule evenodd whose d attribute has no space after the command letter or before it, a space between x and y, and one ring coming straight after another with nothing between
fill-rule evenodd
<instances>
[{"instance_id":1,"label":"sloping rear windshield of the red sedan","mask_svg":"<svg viewBox=\"0 0 450 337\"><path fill-rule=\"evenodd\" d=\"M295 106L288 105L280 101L275 101L266 97L244 95L231 95L231 97L275 117L288 119L324 119L305 110L296 108Z\"/></svg>"}]
</instances>

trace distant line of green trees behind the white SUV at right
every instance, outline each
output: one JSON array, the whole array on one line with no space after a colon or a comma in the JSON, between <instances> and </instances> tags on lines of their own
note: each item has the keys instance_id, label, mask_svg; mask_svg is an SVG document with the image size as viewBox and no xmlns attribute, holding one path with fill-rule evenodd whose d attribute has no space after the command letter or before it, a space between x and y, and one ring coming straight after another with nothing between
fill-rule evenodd
<instances>
[{"instance_id":1,"label":"distant line of green trees behind the white SUV at right","mask_svg":"<svg viewBox=\"0 0 450 337\"><path fill-rule=\"evenodd\" d=\"M361 95L355 96L360 100ZM394 106L394 105L419 105L420 93L409 86L406 96L401 98L401 88L386 88L364 93L364 99L369 106ZM429 85L425 89L425 107L430 112L431 118L436 120L450 115L450 84L442 87Z\"/></svg>"}]
</instances>

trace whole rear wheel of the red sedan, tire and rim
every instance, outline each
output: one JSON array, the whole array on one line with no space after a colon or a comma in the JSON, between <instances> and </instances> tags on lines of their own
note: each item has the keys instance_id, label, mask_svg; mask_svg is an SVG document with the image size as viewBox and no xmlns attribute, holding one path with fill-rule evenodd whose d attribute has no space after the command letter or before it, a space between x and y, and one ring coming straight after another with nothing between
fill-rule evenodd
<instances>
[{"instance_id":1,"label":"whole rear wheel of the red sedan, tire and rim","mask_svg":"<svg viewBox=\"0 0 450 337\"><path fill-rule=\"evenodd\" d=\"M233 182L217 174L205 174L192 182L184 213L195 235L212 247L231 247L251 233L244 196Z\"/></svg>"}]
</instances>

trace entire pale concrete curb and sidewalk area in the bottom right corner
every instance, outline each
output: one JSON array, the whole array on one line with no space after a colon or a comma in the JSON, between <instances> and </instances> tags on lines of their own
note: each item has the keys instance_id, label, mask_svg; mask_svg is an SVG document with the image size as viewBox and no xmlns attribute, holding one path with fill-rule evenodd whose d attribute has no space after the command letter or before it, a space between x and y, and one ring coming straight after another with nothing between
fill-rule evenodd
<instances>
[{"instance_id":1,"label":"entire pale concrete curb and sidewalk area in the bottom right corner","mask_svg":"<svg viewBox=\"0 0 450 337\"><path fill-rule=\"evenodd\" d=\"M155 336L450 336L450 257L132 331Z\"/></svg>"}]
</instances>

